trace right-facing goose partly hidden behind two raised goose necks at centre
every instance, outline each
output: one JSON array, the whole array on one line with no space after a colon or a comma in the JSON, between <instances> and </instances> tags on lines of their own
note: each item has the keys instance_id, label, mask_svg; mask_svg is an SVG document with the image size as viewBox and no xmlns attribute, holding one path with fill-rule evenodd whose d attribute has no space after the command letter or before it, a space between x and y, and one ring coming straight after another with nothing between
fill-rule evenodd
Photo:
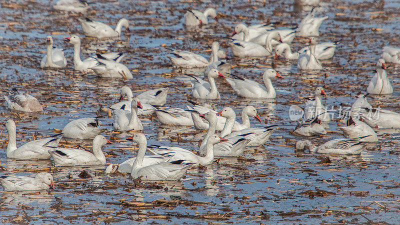
<instances>
[{"instance_id":1,"label":"right-facing goose partly hidden behind two raised goose necks at centre","mask_svg":"<svg viewBox=\"0 0 400 225\"><path fill-rule=\"evenodd\" d=\"M217 113L217 111L209 108L209 107L205 107L199 104L196 104L195 102L189 101L190 103L193 104L192 107L190 106L186 106L190 113L191 113L191 118L192 121L194 123L194 126L197 129L208 129L208 122L205 119L202 119L202 117L200 117L200 114L205 114L209 111L212 111L214 113ZM250 118L249 116L253 116L256 120L258 120L259 122L261 122L261 119L259 118L257 113L253 113L253 109L254 107L251 105L247 105L246 107L244 107L241 111L241 121L242 123L239 123L237 121L234 122L232 130L241 130L244 128L249 128L250 127ZM224 125L225 125L225 117L222 116L218 116L217 117L217 123L216 123L216 130L222 130Z\"/></svg>"}]
</instances>

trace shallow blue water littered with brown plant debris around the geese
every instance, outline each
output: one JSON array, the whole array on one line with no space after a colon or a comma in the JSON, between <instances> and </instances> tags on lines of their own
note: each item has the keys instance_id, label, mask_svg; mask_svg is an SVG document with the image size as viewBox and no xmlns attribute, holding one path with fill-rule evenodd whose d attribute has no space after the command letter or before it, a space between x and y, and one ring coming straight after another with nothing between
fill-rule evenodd
<instances>
[{"instance_id":1,"label":"shallow blue water littered with brown plant debris around the geese","mask_svg":"<svg viewBox=\"0 0 400 225\"><path fill-rule=\"evenodd\" d=\"M321 41L340 40L331 61L322 61L325 70L299 72L295 61L274 61L275 69L285 78L272 80L277 97L274 100L253 100L236 97L230 86L217 80L221 100L210 100L215 108L232 106L237 114L254 105L263 122L277 124L270 142L249 148L243 154L248 161L221 158L219 163L192 168L181 181L134 183L128 175L104 174L104 166L52 168L57 186L50 192L5 193L0 198L1 222L157 222L157 223L334 223L388 222L398 223L399 151L397 130L379 130L380 142L369 144L359 156L331 156L294 152L294 142L301 137L289 133L295 122L288 119L291 104L304 106L303 96L310 96L316 86L323 86L327 97L323 103L337 108L348 106L358 92L365 92L373 75L376 60L384 45L400 46L398 32L398 0L385 1L383 12L371 1L322 1L318 15L328 15L320 28ZM131 35L122 41L82 39L82 57L95 49L127 51L122 60L132 71L132 80L97 78L72 69L72 45L62 42L69 33L81 33L77 18L81 14L64 13L49 8L48 0L1 1L0 79L3 94L16 87L28 91L44 104L41 114L23 114L21 118L1 106L2 121L17 121L17 143L23 143L37 132L54 134L70 120L93 117L102 106L114 103L119 88L132 87L135 93L157 86L170 86L166 105L185 107L190 84L183 74L172 69L168 51L160 45L192 50L208 57L209 46L218 40L227 49L226 37L238 22L276 21L276 27L294 27L306 14L294 8L291 1L95 1L84 16L115 25L120 17L131 21ZM181 17L185 8L217 8L219 22L196 30L185 30ZM53 32L54 45L66 48L67 68L41 69L39 61L45 50L43 38ZM305 38L293 41L294 49L305 45ZM88 54L87 54L87 53ZM262 72L271 66L272 58L234 58L232 72L261 81ZM238 65L240 64L240 65ZM248 66L243 66L248 64ZM389 96L368 98L374 105L398 111L398 65L387 70L394 88ZM188 73L191 73L190 71ZM194 71L200 74L201 70ZM198 101L204 102L204 101ZM197 149L204 132L193 127L160 125L156 117L142 119L148 144L179 145ZM103 117L102 124L112 129L112 118ZM340 124L343 123L339 121ZM265 126L251 120L252 126ZM310 138L315 142L340 137L336 122L330 122L327 136ZM6 130L1 130L1 166L12 171L21 168L47 168L50 160L9 160L5 157ZM187 134L188 133L188 134ZM386 134L387 133L387 134ZM125 141L128 133L104 134L113 141L105 145L107 162L119 163L136 154ZM177 136L181 138L177 138ZM40 137L38 135L38 137ZM176 140L179 140L177 142ZM172 140L172 141L171 141ZM183 140L183 142L182 142ZM68 140L70 141L70 140ZM70 142L68 142L70 143ZM73 141L82 143L82 141ZM90 144L90 142L85 141ZM83 143L83 144L85 144ZM84 145L90 148L89 145ZM128 148L126 148L128 147ZM329 156L330 163L318 163ZM254 160L252 160L254 159ZM87 169L89 179L77 175ZM34 172L16 174L34 175ZM75 181L71 181L71 174ZM315 193L301 193L308 190ZM328 191L328 192L323 192ZM323 196L320 196L323 195ZM165 198L168 203L152 202ZM200 201L200 202L195 202ZM144 203L146 202L146 203Z\"/></svg>"}]
</instances>

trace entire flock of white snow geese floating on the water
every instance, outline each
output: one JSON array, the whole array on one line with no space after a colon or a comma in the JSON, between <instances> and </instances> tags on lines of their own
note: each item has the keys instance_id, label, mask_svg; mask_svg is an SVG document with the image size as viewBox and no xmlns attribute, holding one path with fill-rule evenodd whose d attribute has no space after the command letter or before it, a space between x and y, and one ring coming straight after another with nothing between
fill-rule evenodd
<instances>
[{"instance_id":1,"label":"entire flock of white snow geese floating on the water","mask_svg":"<svg viewBox=\"0 0 400 225\"><path fill-rule=\"evenodd\" d=\"M312 2L314 2L313 0ZM53 5L55 9L81 12L89 6L84 0L59 0ZM318 43L319 26L327 18L315 17L316 10L312 10L294 28L274 28L273 24L245 25L240 23L234 27L229 42L230 49L237 57L282 57L286 60L297 60L300 70L320 70L319 60L333 57L335 47L339 42ZM209 23L208 17L217 21L216 10L206 8L203 12L187 10L184 14L185 26L201 26ZM121 18L115 28L89 18L79 19L82 31L86 36L97 38L119 38L121 29L129 30L129 22ZM309 37L309 45L299 51L292 52L290 44L296 36ZM80 58L80 38L77 35L64 37L64 40L73 45L73 67L79 71L94 71L100 77L132 78L129 69L120 63L124 56L122 52L109 52ZM53 47L51 36L46 38L47 52L43 56L41 67L65 67L67 65L63 50ZM233 91L244 98L275 98L276 93L271 79L283 78L277 71L267 68L263 72L263 84L239 77L230 73L230 65L224 51L219 49L218 42L211 45L211 55L206 59L202 55L176 49L167 49L168 56L174 67L204 68L204 77L189 75L191 80L191 96L199 99L218 99L220 94L215 84L216 78L224 78ZM392 93L393 88L386 75L386 62L400 63L400 49L384 47L382 58L376 63L376 74L367 86L371 94ZM214 110L210 105L199 105L188 101L186 108L163 106L166 102L168 87L144 91L134 97L128 86L120 89L119 102L110 105L113 114L112 126L115 130L130 131L142 130L143 124L139 115L155 113L159 122L177 126L195 126L198 129L207 129L207 133L199 147L200 155L178 146L147 146L147 139L143 133L135 133L126 140L138 144L136 157L127 159L119 165L110 164L106 172L118 170L130 173L133 178L141 176L143 180L178 180L192 165L208 165L214 156L240 156L246 146L259 146L268 141L276 125L266 127L251 127L250 118L261 122L257 109L248 105L242 109L241 123L236 120L235 111L231 107ZM323 87L317 87L314 98L308 99L304 108L303 120L297 122L293 130L301 136L314 136L326 133L331 121L330 112L322 104L321 96L326 95ZM338 127L344 138L333 139L322 145L315 146L310 140L299 140L295 149L308 147L310 152L332 154L359 154L366 142L378 141L372 128L400 127L400 114L382 108L372 108L367 102L367 94L356 97L351 108L345 113L348 115L346 126ZM7 108L25 112L41 112L39 101L27 94L12 89L8 96L4 96ZM126 98L127 100L123 100ZM15 159L49 159L55 166L75 165L105 165L106 158L101 150L102 146L111 143L100 135L104 128L99 126L98 118L79 118L67 123L62 133L53 136L29 141L20 146L16 144L16 126L13 120L7 120L5 127L8 131L7 158ZM219 134L216 131L220 130ZM93 139L92 152L58 147L61 138ZM146 155L149 151L151 154ZM201 156L203 155L203 156ZM39 190L53 188L51 174L40 172L36 177L18 175L0 176L0 183L4 190Z\"/></svg>"}]
</instances>

